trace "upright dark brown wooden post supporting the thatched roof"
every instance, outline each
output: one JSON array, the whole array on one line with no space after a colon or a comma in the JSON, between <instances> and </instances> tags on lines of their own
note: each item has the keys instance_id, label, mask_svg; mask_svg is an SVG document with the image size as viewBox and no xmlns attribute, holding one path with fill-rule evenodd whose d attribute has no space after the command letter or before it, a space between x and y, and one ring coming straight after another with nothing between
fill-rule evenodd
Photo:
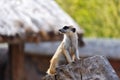
<instances>
[{"instance_id":1,"label":"upright dark brown wooden post supporting the thatched roof","mask_svg":"<svg viewBox=\"0 0 120 80\"><path fill-rule=\"evenodd\" d=\"M24 44L9 44L10 80L24 80Z\"/></svg>"}]
</instances>

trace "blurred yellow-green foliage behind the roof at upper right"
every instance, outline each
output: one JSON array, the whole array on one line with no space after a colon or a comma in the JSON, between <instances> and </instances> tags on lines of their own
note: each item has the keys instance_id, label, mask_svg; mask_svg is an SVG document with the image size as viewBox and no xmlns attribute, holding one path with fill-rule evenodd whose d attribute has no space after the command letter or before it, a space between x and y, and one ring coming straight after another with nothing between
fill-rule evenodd
<instances>
[{"instance_id":1,"label":"blurred yellow-green foliage behind the roof at upper right","mask_svg":"<svg viewBox=\"0 0 120 80\"><path fill-rule=\"evenodd\" d=\"M57 0L87 37L120 38L120 0Z\"/></svg>"}]
</instances>

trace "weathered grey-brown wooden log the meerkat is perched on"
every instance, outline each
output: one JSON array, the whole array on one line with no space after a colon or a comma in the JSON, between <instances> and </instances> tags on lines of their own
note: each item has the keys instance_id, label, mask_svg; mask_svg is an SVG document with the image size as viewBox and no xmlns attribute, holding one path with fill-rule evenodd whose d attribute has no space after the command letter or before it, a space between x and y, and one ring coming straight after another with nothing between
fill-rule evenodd
<instances>
[{"instance_id":1,"label":"weathered grey-brown wooden log the meerkat is perched on","mask_svg":"<svg viewBox=\"0 0 120 80\"><path fill-rule=\"evenodd\" d=\"M56 74L43 80L120 80L108 60L102 56L88 57L56 68Z\"/></svg>"}]
</instances>

